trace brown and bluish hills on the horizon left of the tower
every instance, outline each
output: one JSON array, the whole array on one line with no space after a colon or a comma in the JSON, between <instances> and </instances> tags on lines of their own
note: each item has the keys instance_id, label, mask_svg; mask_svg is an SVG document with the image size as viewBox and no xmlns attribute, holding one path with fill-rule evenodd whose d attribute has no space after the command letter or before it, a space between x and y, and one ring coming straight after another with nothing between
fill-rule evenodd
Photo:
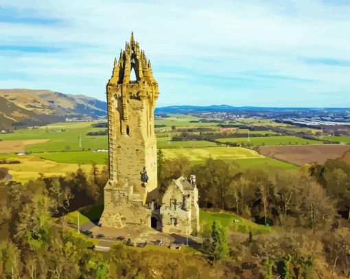
<instances>
[{"instance_id":1,"label":"brown and bluish hills on the horizon left of the tower","mask_svg":"<svg viewBox=\"0 0 350 279\"><path fill-rule=\"evenodd\" d=\"M51 90L0 89L0 129L13 123L45 125L67 118L106 117L107 104L84 95Z\"/></svg>"}]
</instances>

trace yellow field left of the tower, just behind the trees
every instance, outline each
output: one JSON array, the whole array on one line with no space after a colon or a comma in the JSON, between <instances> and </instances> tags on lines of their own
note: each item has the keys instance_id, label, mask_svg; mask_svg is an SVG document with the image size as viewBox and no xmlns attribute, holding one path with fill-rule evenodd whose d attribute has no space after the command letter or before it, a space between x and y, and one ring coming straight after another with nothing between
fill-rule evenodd
<instances>
[{"instance_id":1,"label":"yellow field left of the tower, just behind the trees","mask_svg":"<svg viewBox=\"0 0 350 279\"><path fill-rule=\"evenodd\" d=\"M76 171L78 164L65 164L44 160L34 156L25 156L23 158L14 158L8 160L19 160L20 164L1 164L12 175L12 180L18 182L27 182L38 178L39 173L43 173L45 177L65 175L66 173ZM102 165L98 165L102 169ZM91 171L91 165L81 165L86 173Z\"/></svg>"}]
</instances>

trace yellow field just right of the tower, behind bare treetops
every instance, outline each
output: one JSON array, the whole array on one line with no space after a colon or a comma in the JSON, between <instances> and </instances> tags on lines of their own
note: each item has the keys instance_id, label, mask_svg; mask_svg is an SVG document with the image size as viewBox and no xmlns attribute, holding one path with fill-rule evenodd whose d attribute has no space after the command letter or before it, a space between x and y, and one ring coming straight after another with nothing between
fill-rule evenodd
<instances>
[{"instance_id":1,"label":"yellow field just right of the tower, behind bare treetops","mask_svg":"<svg viewBox=\"0 0 350 279\"><path fill-rule=\"evenodd\" d=\"M211 157L213 159L236 160L265 158L255 150L242 147L207 147L207 148L174 148L162 149L165 158L186 157L190 161L202 161Z\"/></svg>"}]
</instances>

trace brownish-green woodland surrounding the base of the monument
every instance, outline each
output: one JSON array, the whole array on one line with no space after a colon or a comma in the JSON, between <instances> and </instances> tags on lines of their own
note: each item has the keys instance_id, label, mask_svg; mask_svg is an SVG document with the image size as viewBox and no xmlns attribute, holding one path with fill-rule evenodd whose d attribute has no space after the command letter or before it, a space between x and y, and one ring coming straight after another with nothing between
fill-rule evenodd
<instances>
[{"instance_id":1,"label":"brownish-green woodland surrounding the base of the monument","mask_svg":"<svg viewBox=\"0 0 350 279\"><path fill-rule=\"evenodd\" d=\"M235 162L158 153L159 191L180 175L197 176L200 208L233 213L268 233L203 226L196 252L142 250L117 243L108 253L68 226L66 215L103 204L108 169L0 184L2 278L349 278L349 152L298 172L242 169ZM3 176L6 169L0 169ZM0 177L1 177L0 175ZM156 249L156 248L154 248Z\"/></svg>"}]
</instances>

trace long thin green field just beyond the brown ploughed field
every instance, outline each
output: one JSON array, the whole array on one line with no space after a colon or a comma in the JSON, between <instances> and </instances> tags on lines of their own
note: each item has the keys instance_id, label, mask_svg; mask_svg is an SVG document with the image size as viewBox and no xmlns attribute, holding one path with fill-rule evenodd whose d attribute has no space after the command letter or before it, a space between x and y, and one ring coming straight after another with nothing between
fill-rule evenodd
<instances>
[{"instance_id":1,"label":"long thin green field just beyond the brown ploughed field","mask_svg":"<svg viewBox=\"0 0 350 279\"><path fill-rule=\"evenodd\" d=\"M259 136L248 138L219 138L217 141L221 143L237 143L247 145L248 143L257 145L306 145L306 144L322 144L322 141L313 141L305 138L299 138L297 136Z\"/></svg>"}]
</instances>

